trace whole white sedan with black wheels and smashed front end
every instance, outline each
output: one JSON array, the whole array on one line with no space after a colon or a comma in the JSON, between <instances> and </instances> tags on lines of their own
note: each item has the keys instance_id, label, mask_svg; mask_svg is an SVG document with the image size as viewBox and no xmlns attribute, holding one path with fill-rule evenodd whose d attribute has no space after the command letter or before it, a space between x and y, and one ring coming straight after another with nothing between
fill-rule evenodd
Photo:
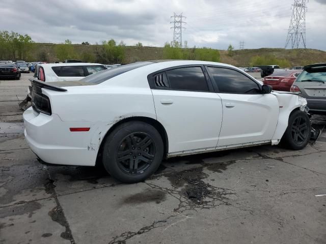
<instances>
[{"instance_id":1,"label":"whole white sedan with black wheels and smashed front end","mask_svg":"<svg viewBox=\"0 0 326 244\"><path fill-rule=\"evenodd\" d=\"M146 179L162 158L281 139L302 149L311 134L305 98L220 63L140 62L32 86L24 133L41 161L102 163L123 182Z\"/></svg>"}]
</instances>

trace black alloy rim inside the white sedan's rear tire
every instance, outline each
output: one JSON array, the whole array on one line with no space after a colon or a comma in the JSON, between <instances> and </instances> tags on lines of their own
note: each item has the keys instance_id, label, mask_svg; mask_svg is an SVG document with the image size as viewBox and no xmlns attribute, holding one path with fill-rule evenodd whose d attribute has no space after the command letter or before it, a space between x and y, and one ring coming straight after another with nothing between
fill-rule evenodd
<instances>
[{"instance_id":1,"label":"black alloy rim inside the white sedan's rear tire","mask_svg":"<svg viewBox=\"0 0 326 244\"><path fill-rule=\"evenodd\" d=\"M141 174L152 164L155 152L155 144L150 135L144 132L131 133L118 146L118 166L127 174Z\"/></svg>"}]
</instances>

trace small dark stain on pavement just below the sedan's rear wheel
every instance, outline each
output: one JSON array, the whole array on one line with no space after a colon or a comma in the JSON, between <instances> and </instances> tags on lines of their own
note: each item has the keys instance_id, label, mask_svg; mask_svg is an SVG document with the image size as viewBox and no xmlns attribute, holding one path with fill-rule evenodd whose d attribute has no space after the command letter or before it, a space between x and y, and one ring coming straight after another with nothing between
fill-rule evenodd
<instances>
[{"instance_id":1,"label":"small dark stain on pavement just below the sedan's rear wheel","mask_svg":"<svg viewBox=\"0 0 326 244\"><path fill-rule=\"evenodd\" d=\"M166 195L167 195L167 193L164 191L149 190L146 192L141 192L141 193L131 195L131 196L125 198L123 200L123 202L129 203L129 204L132 204L132 203L139 204L139 203L145 203L145 202L160 203L160 202L166 200Z\"/></svg>"}]
</instances>

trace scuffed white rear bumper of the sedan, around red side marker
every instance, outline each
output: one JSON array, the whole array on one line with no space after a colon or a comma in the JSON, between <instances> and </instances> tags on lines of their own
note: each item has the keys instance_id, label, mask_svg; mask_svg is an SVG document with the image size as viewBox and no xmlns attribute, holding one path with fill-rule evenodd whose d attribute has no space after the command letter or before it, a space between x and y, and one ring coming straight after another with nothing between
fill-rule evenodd
<instances>
[{"instance_id":1,"label":"scuffed white rear bumper of the sedan, around red side marker","mask_svg":"<svg viewBox=\"0 0 326 244\"><path fill-rule=\"evenodd\" d=\"M57 114L23 113L25 139L44 162L59 165L94 166L97 150L92 146L92 131L70 132L70 127L91 127L86 122L65 122Z\"/></svg>"}]
</instances>

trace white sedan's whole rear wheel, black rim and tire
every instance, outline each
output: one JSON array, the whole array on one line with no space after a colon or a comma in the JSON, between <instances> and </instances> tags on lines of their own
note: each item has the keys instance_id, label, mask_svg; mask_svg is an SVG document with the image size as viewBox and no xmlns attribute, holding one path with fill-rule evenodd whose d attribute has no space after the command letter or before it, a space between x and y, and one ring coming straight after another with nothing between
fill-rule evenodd
<instances>
[{"instance_id":1,"label":"white sedan's whole rear wheel, black rim and tire","mask_svg":"<svg viewBox=\"0 0 326 244\"><path fill-rule=\"evenodd\" d=\"M103 146L103 166L122 182L143 181L159 167L164 152L162 138L151 125L129 121L107 136Z\"/></svg>"}]
</instances>

